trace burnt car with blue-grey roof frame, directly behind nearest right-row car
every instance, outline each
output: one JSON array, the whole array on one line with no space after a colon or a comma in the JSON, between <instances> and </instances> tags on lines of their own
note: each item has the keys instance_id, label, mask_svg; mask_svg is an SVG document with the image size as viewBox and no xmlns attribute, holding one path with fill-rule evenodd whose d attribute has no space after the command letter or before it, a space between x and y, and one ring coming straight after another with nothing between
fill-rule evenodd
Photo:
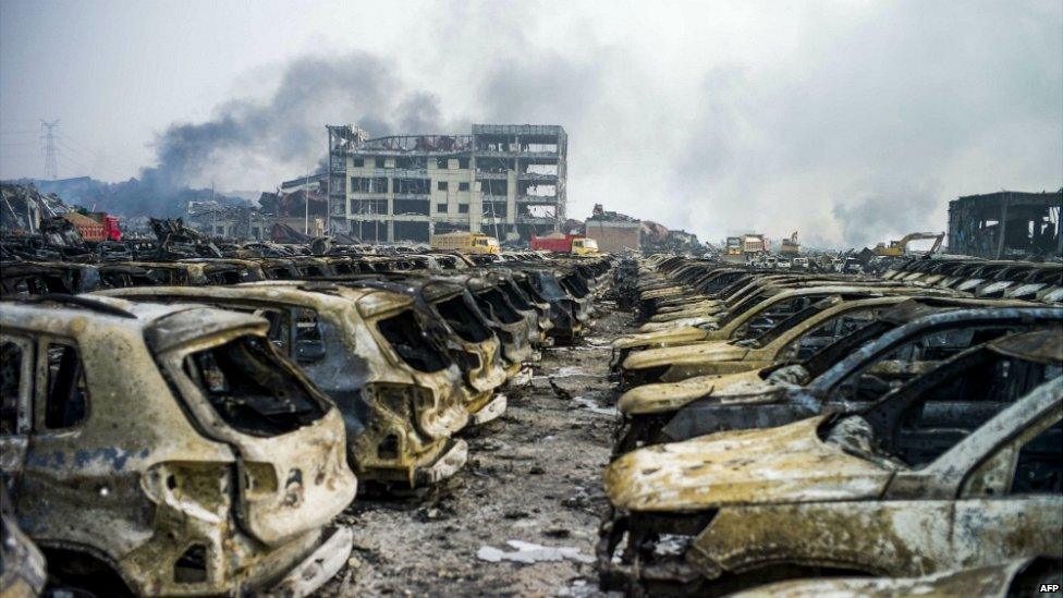
<instances>
[{"instance_id":1,"label":"burnt car with blue-grey roof frame, directly behind nearest right-row car","mask_svg":"<svg viewBox=\"0 0 1063 598\"><path fill-rule=\"evenodd\" d=\"M1061 326L1063 308L912 298L811 355L795 346L795 359L758 370L628 390L618 401L625 424L616 452L859 408L972 346L1016 331Z\"/></svg>"}]
</instances>

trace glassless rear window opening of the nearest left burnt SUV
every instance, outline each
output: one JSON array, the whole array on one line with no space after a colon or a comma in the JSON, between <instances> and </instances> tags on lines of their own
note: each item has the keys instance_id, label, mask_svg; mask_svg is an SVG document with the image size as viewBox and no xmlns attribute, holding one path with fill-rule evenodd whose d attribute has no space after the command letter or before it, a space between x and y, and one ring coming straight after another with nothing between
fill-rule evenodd
<instances>
[{"instance_id":1,"label":"glassless rear window opening of the nearest left burnt SUV","mask_svg":"<svg viewBox=\"0 0 1063 598\"><path fill-rule=\"evenodd\" d=\"M286 434L326 413L291 368L256 337L190 354L184 369L218 415L244 434Z\"/></svg>"}]
</instances>

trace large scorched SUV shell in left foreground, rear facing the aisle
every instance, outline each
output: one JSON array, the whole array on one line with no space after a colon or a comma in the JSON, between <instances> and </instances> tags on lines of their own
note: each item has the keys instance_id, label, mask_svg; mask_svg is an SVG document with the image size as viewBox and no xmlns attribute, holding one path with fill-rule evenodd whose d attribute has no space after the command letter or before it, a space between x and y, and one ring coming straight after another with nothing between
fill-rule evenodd
<instances>
[{"instance_id":1,"label":"large scorched SUV shell in left foreground, rear facing the aisle","mask_svg":"<svg viewBox=\"0 0 1063 598\"><path fill-rule=\"evenodd\" d=\"M305 594L342 566L343 420L265 319L84 296L0 319L3 473L52 578Z\"/></svg>"}]
</instances>

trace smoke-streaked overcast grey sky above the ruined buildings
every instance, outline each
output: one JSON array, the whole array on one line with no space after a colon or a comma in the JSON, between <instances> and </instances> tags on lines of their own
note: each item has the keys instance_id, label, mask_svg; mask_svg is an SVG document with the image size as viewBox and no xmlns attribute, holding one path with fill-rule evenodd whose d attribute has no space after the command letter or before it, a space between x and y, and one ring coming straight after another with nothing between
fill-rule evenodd
<instances>
[{"instance_id":1,"label":"smoke-streaked overcast grey sky above the ruined buildings","mask_svg":"<svg viewBox=\"0 0 1063 598\"><path fill-rule=\"evenodd\" d=\"M0 0L0 176L40 119L60 176L234 191L326 122L561 124L571 217L859 246L1063 185L1063 2Z\"/></svg>"}]
</instances>

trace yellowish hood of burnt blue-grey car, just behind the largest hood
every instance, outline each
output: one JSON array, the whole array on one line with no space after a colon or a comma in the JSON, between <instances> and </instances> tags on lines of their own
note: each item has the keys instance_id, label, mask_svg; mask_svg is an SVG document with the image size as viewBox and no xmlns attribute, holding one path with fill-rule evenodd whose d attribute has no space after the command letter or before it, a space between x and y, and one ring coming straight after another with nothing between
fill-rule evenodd
<instances>
[{"instance_id":1,"label":"yellowish hood of burnt blue-grey car, just behind the largest hood","mask_svg":"<svg viewBox=\"0 0 1063 598\"><path fill-rule=\"evenodd\" d=\"M616 408L627 415L668 413L692 401L712 396L720 403L760 403L777 400L784 389L760 378L760 370L695 376L679 382L635 387L620 396Z\"/></svg>"}]
</instances>

